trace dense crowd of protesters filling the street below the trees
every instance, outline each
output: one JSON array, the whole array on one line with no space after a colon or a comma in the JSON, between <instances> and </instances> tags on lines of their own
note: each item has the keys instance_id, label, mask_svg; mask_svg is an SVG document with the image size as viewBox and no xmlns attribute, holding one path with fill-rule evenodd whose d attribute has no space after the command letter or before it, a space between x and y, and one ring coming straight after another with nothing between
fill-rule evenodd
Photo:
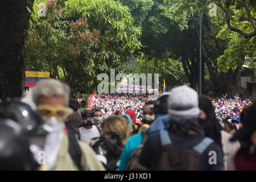
<instances>
[{"instance_id":1,"label":"dense crowd of protesters filling the street below the trees","mask_svg":"<svg viewBox=\"0 0 256 182\"><path fill-rule=\"evenodd\" d=\"M188 86L154 101L97 94L81 109L50 78L32 101L3 100L0 125L1 170L256 170L255 102Z\"/></svg>"}]
</instances>

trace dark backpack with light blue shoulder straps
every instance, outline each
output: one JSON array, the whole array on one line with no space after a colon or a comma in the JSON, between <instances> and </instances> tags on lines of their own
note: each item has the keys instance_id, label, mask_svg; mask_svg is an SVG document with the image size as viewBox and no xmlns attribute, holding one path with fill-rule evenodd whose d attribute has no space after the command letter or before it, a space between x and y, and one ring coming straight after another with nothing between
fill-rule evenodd
<instances>
[{"instance_id":1,"label":"dark backpack with light blue shoulder straps","mask_svg":"<svg viewBox=\"0 0 256 182\"><path fill-rule=\"evenodd\" d=\"M192 148L177 148L171 142L167 130L159 133L162 153L159 156L157 169L161 171L200 171L200 156L213 143L213 139L205 137Z\"/></svg>"}]
</instances>

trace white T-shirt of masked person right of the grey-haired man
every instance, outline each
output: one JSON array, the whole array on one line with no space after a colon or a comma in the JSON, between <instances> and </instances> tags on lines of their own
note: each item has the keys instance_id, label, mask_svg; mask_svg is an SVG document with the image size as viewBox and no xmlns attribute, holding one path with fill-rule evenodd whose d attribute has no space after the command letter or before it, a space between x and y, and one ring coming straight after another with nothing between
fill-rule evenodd
<instances>
[{"instance_id":1,"label":"white T-shirt of masked person right of the grey-haired man","mask_svg":"<svg viewBox=\"0 0 256 182\"><path fill-rule=\"evenodd\" d=\"M92 145L97 141L97 140L92 140L92 138L101 137L97 127L94 125L92 125L91 129L85 129L85 127L80 127L79 132L80 132L80 140L83 142L89 141L90 143L92 143Z\"/></svg>"}]
</instances>

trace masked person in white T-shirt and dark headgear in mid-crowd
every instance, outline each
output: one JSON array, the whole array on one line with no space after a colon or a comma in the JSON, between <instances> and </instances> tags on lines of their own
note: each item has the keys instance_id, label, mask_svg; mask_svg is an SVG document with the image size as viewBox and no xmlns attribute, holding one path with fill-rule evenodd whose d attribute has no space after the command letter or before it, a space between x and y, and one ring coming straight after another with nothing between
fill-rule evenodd
<instances>
[{"instance_id":1,"label":"masked person in white T-shirt and dark headgear in mid-crowd","mask_svg":"<svg viewBox=\"0 0 256 182\"><path fill-rule=\"evenodd\" d=\"M82 111L82 127L79 129L80 140L88 144L93 145L96 142L96 138L100 138L100 129L94 125L93 112L89 109Z\"/></svg>"}]
</instances>

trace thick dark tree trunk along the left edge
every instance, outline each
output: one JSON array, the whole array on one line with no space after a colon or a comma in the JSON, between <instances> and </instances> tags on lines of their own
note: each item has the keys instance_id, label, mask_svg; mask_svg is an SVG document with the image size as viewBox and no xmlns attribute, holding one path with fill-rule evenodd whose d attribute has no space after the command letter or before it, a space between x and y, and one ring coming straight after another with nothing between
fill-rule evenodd
<instances>
[{"instance_id":1,"label":"thick dark tree trunk along the left edge","mask_svg":"<svg viewBox=\"0 0 256 182\"><path fill-rule=\"evenodd\" d=\"M34 2L34 0L32 0ZM30 14L27 0L1 2L0 98L20 97L24 81L22 48Z\"/></svg>"}]
</instances>

